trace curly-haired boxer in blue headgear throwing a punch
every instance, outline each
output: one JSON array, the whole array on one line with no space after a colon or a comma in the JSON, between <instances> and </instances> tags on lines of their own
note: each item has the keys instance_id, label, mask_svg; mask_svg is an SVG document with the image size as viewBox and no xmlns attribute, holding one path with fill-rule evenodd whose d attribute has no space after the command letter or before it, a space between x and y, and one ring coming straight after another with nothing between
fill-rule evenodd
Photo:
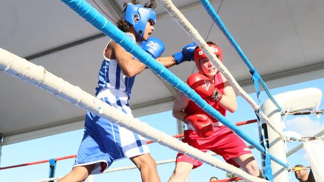
<instances>
[{"instance_id":1,"label":"curly-haired boxer in blue headgear throwing a punch","mask_svg":"<svg viewBox=\"0 0 324 182\"><path fill-rule=\"evenodd\" d=\"M164 51L161 40L150 37L156 13L139 4L127 3L118 27L165 67L191 61L193 44L173 56L159 58ZM111 40L104 49L96 96L107 104L132 114L128 100L135 76L146 66ZM90 174L104 172L115 160L129 158L140 170L143 182L160 182L156 162L145 139L124 127L91 112L85 118L85 131L72 171L59 182L83 182Z\"/></svg>"}]
</instances>

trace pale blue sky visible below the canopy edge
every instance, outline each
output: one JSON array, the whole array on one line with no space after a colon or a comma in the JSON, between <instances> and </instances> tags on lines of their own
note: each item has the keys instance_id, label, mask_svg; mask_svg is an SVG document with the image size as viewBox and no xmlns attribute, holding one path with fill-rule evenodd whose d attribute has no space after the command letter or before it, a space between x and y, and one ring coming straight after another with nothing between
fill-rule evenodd
<instances>
[{"instance_id":1,"label":"pale blue sky visible below the canopy edge","mask_svg":"<svg viewBox=\"0 0 324 182\"><path fill-rule=\"evenodd\" d=\"M324 79L313 80L301 84L276 88L270 90L270 92L273 95L276 95L285 91L293 91L311 87L316 87L322 92L324 92ZM254 100L256 100L255 93L251 93L250 95ZM266 99L268 98L266 94L262 91L261 102L264 102ZM253 109L243 98L238 96L237 101L237 111L234 113L227 113L227 117L232 122L256 119ZM324 109L324 103L321 103L320 109ZM165 132L166 134L177 134L176 119L172 117L171 111L143 116L139 119L143 122L147 122L149 125ZM324 130L323 115L320 115L320 118L316 117L314 114L302 116L288 116L284 122L287 126L287 128L284 129L284 131L295 131L303 136L314 136L315 134ZM240 126L240 129L242 129L242 131L245 134L252 137L255 141L259 141L257 123ZM78 151L78 147L81 142L82 136L83 129L80 129L76 131L2 146L0 166L6 167L11 165L18 165L23 163L74 155ZM295 148L299 144L301 143L288 143L288 151ZM149 147L151 150L151 155L157 162L174 159L176 156L175 151L172 151L157 143L150 144ZM260 152L256 149L252 149L252 152L254 157L258 161L259 166L261 166ZM219 156L215 157L223 161L223 159L221 159ZM294 153L287 160L290 166L292 167L296 164L303 164L305 166L309 166L309 162L304 149L301 149L298 152ZM55 171L55 177L62 177L68 172L70 172L73 162L74 159L58 161ZM109 169L132 165L133 164L129 159L123 159L114 162ZM163 164L158 166L158 173L162 182L166 182L168 180L173 169L174 163ZM48 178L48 173L48 163L6 169L0 171L0 182L31 182ZM218 179L225 179L225 174L226 173L224 171L204 164L202 165L202 167L192 170L189 179L190 182L208 182L209 178L212 176L215 176ZM137 169L94 176L94 182L129 182L130 180L132 182L141 182L140 173ZM293 173L290 173L290 182L298 182L295 179Z\"/></svg>"}]
</instances>

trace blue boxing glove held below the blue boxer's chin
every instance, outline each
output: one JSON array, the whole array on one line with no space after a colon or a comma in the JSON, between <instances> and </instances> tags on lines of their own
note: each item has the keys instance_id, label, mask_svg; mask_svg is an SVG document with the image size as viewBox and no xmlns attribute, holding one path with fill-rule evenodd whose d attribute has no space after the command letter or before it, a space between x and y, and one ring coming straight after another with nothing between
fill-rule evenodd
<instances>
[{"instance_id":1,"label":"blue boxing glove held below the blue boxer's chin","mask_svg":"<svg viewBox=\"0 0 324 182\"><path fill-rule=\"evenodd\" d=\"M141 48L151 54L154 59L157 59L163 53L165 46L158 38L150 37L148 40L142 42Z\"/></svg>"}]
</instances>

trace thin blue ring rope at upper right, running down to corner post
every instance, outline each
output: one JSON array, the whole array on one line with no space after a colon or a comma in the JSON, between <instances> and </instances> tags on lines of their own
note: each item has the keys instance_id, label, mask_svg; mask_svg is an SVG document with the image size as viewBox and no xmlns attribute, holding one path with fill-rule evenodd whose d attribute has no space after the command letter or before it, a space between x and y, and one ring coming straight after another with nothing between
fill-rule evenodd
<instances>
[{"instance_id":1,"label":"thin blue ring rope at upper right, running down to corner post","mask_svg":"<svg viewBox=\"0 0 324 182\"><path fill-rule=\"evenodd\" d=\"M280 112L284 112L283 109L282 109L282 107L277 103L277 101L275 100L275 98L271 95L268 86L266 85L266 83L264 83L264 81L262 80L261 76L258 73L255 74L256 69L253 67L253 65L251 64L251 62L249 61L249 59L246 57L246 55L244 54L244 52L242 51L242 49L240 48L240 46L236 43L236 41L234 40L234 38L231 35L231 33L229 33L229 31L227 30L225 24L222 22L222 20L220 19L220 17L216 13L215 9L211 6L210 2L208 0L200 0L200 2L202 3L202 5L206 9L206 11L208 12L208 14L210 15L210 17L213 19L213 21L217 24L217 26L219 27L219 29L226 36L226 38L230 42L230 44L234 47L234 49L239 54L239 56L241 57L241 59L244 61L244 63L246 64L246 66L249 68L251 74L254 75L255 77L258 77L259 83L263 87L264 91L266 91L267 95L272 100L272 102L275 104L275 106L278 108L278 110Z\"/></svg>"}]
</instances>

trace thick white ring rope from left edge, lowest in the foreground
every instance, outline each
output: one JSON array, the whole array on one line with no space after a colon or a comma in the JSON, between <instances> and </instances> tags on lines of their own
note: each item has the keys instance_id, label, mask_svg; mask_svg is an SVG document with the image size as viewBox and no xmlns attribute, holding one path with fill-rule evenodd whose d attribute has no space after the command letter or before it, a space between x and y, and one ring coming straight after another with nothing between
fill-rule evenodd
<instances>
[{"instance_id":1,"label":"thick white ring rope from left edge, lowest in the foreground","mask_svg":"<svg viewBox=\"0 0 324 182\"><path fill-rule=\"evenodd\" d=\"M185 153L194 159L209 164L210 166L217 167L229 173L234 173L251 182L266 182L266 180L249 175L230 164L211 157L210 155L149 126L147 123L141 122L139 119L136 119L131 115L125 114L123 111L106 104L102 100L99 100L93 95L81 90L79 87L73 86L63 79L47 72L43 67L28 62L27 60L1 48L0 70L57 95L71 103L75 103L79 107L93 112L100 117L109 119L112 122L120 121L118 125L132 130L150 140L156 141L172 150Z\"/></svg>"}]
</instances>

